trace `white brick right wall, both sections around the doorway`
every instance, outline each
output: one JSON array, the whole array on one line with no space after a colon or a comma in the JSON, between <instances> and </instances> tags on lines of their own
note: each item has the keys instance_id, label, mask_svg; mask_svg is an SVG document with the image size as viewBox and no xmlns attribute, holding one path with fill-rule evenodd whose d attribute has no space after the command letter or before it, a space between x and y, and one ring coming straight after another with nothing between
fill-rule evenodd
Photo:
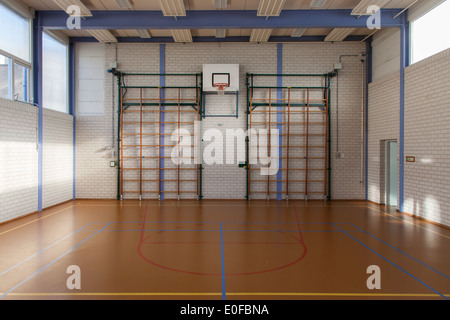
<instances>
[{"instance_id":1,"label":"white brick right wall, both sections around the doorway","mask_svg":"<svg viewBox=\"0 0 450 320\"><path fill-rule=\"evenodd\" d=\"M450 50L405 70L405 157L416 162L405 162L404 211L444 225L450 225L449 71ZM385 203L382 141L399 140L399 72L370 84L369 99L369 200Z\"/></svg>"}]
</instances>

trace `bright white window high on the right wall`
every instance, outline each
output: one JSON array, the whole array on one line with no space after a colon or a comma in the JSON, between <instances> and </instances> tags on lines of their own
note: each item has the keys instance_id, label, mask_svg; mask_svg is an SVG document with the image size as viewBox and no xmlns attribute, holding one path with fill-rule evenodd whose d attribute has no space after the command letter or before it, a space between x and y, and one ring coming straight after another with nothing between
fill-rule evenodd
<instances>
[{"instance_id":1,"label":"bright white window high on the right wall","mask_svg":"<svg viewBox=\"0 0 450 320\"><path fill-rule=\"evenodd\" d=\"M450 0L411 23L411 63L450 48Z\"/></svg>"}]
</instances>

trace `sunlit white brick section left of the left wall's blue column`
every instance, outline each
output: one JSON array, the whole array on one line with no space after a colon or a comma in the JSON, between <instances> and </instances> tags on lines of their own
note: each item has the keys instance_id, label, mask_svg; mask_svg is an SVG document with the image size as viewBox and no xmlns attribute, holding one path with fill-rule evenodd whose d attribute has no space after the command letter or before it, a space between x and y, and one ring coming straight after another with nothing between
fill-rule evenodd
<instances>
[{"instance_id":1,"label":"sunlit white brick section left of the left wall's blue column","mask_svg":"<svg viewBox=\"0 0 450 320\"><path fill-rule=\"evenodd\" d=\"M38 210L37 108L0 99L0 223Z\"/></svg>"}]
</instances>

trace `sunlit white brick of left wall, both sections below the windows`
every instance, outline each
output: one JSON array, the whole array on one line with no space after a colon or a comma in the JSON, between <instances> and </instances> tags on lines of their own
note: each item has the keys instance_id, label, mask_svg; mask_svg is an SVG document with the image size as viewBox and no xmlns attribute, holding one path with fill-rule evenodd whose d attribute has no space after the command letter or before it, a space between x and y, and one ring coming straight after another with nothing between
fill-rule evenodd
<instances>
[{"instance_id":1,"label":"sunlit white brick of left wall, both sections below the windows","mask_svg":"<svg viewBox=\"0 0 450 320\"><path fill-rule=\"evenodd\" d=\"M44 109L43 208L72 199L71 115ZM0 99L0 222L38 210L38 109Z\"/></svg>"}]
</instances>

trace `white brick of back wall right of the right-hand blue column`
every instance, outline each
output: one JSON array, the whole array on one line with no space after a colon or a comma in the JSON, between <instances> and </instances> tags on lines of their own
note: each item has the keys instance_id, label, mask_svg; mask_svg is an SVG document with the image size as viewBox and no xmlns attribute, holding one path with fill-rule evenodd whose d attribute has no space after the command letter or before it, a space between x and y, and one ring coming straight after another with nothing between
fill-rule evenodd
<instances>
[{"instance_id":1,"label":"white brick of back wall right of the right-hand blue column","mask_svg":"<svg viewBox=\"0 0 450 320\"><path fill-rule=\"evenodd\" d=\"M284 45L283 51L285 73L327 73L333 70L341 55L349 56L341 58L343 68L339 80L334 78L331 86L331 196L332 199L363 199L360 168L365 64L361 57L350 56L364 53L365 46L360 43L290 44ZM337 158L338 151L343 153L343 158Z\"/></svg>"}]
</instances>

